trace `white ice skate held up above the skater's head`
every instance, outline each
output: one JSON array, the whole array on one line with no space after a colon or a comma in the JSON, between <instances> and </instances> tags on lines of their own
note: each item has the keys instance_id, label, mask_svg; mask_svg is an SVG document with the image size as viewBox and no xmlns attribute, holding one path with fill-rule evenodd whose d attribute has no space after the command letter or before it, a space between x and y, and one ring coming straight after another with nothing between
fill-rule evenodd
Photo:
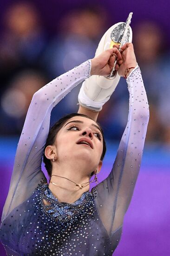
<instances>
[{"instance_id":1,"label":"white ice skate held up above the skater's head","mask_svg":"<svg viewBox=\"0 0 170 256\"><path fill-rule=\"evenodd\" d=\"M110 27L98 44L95 56L98 56L103 51L112 48L113 45L124 45L127 42L132 42L131 27L126 26L125 22L119 22ZM126 26L126 33L125 32ZM92 75L86 79L80 92L78 94L78 102L85 108L94 111L100 111L106 101L110 99L111 94L114 92L120 76L117 71L114 71L111 77Z\"/></svg>"}]
</instances>

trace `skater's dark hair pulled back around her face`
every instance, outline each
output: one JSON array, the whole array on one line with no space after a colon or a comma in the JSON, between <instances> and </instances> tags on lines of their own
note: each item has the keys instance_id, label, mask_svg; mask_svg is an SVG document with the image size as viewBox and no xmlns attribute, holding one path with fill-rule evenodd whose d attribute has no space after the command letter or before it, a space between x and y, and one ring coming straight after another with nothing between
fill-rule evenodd
<instances>
[{"instance_id":1,"label":"skater's dark hair pulled back around her face","mask_svg":"<svg viewBox=\"0 0 170 256\"><path fill-rule=\"evenodd\" d=\"M59 119L59 121L57 121L53 126L52 128L50 129L49 133L48 133L48 137L47 137L47 140L46 140L46 145L45 145L45 148L44 148L44 153L43 153L43 162L45 163L45 167L46 167L46 170L47 170L47 173L48 175L51 177L52 175L52 163L51 163L51 160L46 158L46 155L45 155L45 149L47 146L49 145L53 145L54 141L55 141L55 137L56 135L58 134L59 130L63 127L63 125L65 124L65 122L74 117L74 116L83 116L83 117L86 117L86 118L89 118L89 119L92 119L91 117L87 116L87 115L83 115L83 114L78 114L78 113L72 113L72 114L69 114L69 115L65 115L64 117L62 117L61 119ZM92 119L93 120L93 119ZM97 123L98 124L98 123ZM102 161L104 159L104 156L105 156L105 152L106 152L106 144L105 144L105 139L104 139L104 134L103 134L103 130L101 128L101 126L98 124L99 128L101 129L101 134L103 136L103 152L102 152L102 155L101 155L101 158L100 160ZM93 175L93 173L92 173ZM91 176L92 176L91 175Z\"/></svg>"}]
</instances>

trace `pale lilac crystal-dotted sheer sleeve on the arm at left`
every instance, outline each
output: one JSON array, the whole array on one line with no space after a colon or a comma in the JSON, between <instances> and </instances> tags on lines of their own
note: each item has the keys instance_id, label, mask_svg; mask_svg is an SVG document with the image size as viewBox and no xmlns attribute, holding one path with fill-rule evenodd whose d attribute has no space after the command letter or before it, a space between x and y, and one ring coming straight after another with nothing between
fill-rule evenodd
<instances>
[{"instance_id":1,"label":"pale lilac crystal-dotted sheer sleeve on the arm at left","mask_svg":"<svg viewBox=\"0 0 170 256\"><path fill-rule=\"evenodd\" d=\"M45 179L41 171L41 162L52 108L72 88L88 78L90 71L91 61L88 60L57 77L33 95L16 151L2 221L33 193L42 179Z\"/></svg>"}]
</instances>

